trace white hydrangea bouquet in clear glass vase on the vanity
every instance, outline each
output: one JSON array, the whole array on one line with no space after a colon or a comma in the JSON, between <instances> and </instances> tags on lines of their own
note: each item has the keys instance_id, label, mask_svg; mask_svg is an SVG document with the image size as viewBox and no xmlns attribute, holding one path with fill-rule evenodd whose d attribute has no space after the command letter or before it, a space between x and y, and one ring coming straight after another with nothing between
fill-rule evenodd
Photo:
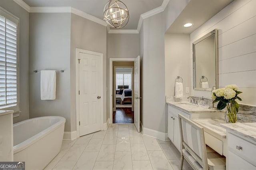
<instances>
[{"instance_id":1,"label":"white hydrangea bouquet in clear glass vase on the vanity","mask_svg":"<svg viewBox=\"0 0 256 170\"><path fill-rule=\"evenodd\" d=\"M217 105L218 110L227 107L228 113L226 113L226 116L228 117L228 120L226 121L230 123L236 123L237 121L236 113L238 112L239 105L236 102L236 99L242 101L242 99L237 96L240 93L242 92L238 91L237 85L227 85L224 88L212 91L212 103L219 102Z\"/></svg>"}]
</instances>

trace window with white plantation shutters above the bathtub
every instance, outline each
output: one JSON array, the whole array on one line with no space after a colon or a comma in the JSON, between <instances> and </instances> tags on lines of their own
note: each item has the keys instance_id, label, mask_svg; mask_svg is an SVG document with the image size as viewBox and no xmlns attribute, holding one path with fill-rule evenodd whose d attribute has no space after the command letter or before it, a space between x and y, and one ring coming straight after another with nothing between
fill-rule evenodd
<instances>
[{"instance_id":1,"label":"window with white plantation shutters above the bathtub","mask_svg":"<svg viewBox=\"0 0 256 170\"><path fill-rule=\"evenodd\" d=\"M0 109L19 111L18 19L0 9Z\"/></svg>"}]
</instances>

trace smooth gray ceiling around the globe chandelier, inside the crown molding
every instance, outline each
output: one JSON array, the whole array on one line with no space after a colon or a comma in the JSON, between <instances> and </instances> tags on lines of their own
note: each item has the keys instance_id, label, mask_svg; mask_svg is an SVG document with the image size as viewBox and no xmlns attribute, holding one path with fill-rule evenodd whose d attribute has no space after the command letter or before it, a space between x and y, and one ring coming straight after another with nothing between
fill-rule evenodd
<instances>
[{"instance_id":1,"label":"smooth gray ceiling around the globe chandelier, inside the crown molding","mask_svg":"<svg viewBox=\"0 0 256 170\"><path fill-rule=\"evenodd\" d=\"M103 20L103 9L108 0L23 0L30 7L71 6ZM148 12L162 5L163 0L122 0L130 11L125 30L136 30L140 14Z\"/></svg>"}]
</instances>

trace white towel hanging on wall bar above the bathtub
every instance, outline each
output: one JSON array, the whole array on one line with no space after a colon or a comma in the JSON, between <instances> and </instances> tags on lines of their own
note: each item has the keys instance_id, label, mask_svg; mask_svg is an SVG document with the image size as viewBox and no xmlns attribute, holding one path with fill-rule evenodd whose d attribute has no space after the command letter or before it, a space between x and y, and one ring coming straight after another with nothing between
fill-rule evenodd
<instances>
[{"instance_id":1,"label":"white towel hanging on wall bar above the bathtub","mask_svg":"<svg viewBox=\"0 0 256 170\"><path fill-rule=\"evenodd\" d=\"M56 70L41 71L41 100L55 100Z\"/></svg>"}]
</instances>

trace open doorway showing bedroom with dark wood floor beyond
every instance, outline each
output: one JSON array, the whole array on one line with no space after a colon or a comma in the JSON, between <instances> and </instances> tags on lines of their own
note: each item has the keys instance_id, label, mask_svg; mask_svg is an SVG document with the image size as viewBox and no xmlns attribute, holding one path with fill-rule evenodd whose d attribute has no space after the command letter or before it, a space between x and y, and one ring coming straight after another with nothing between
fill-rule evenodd
<instances>
[{"instance_id":1,"label":"open doorway showing bedroom with dark wood floor beyond","mask_svg":"<svg viewBox=\"0 0 256 170\"><path fill-rule=\"evenodd\" d=\"M113 123L134 123L134 61L113 62Z\"/></svg>"}]
</instances>

